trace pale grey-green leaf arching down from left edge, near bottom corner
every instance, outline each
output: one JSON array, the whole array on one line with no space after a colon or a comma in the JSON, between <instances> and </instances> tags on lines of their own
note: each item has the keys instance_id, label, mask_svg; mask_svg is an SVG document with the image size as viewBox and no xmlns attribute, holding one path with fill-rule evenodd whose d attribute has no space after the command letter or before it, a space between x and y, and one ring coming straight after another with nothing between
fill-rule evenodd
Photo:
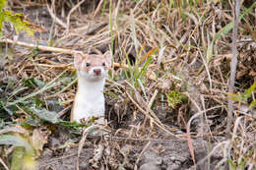
<instances>
[{"instance_id":1,"label":"pale grey-green leaf arching down from left edge, near bottom corner","mask_svg":"<svg viewBox=\"0 0 256 170\"><path fill-rule=\"evenodd\" d=\"M25 141L23 138L14 135L2 135L0 136L0 144L11 144L15 146L23 146L26 151L33 152L32 145Z\"/></svg>"}]
</instances>

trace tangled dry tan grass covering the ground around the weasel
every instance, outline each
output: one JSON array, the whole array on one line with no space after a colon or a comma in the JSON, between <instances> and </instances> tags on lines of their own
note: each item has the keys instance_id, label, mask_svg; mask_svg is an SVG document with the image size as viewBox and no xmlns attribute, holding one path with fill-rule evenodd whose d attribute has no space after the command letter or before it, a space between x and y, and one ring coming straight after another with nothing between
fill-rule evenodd
<instances>
[{"instance_id":1,"label":"tangled dry tan grass covering the ground around the weasel","mask_svg":"<svg viewBox=\"0 0 256 170\"><path fill-rule=\"evenodd\" d=\"M119 67L111 69L105 93L108 114L112 114L109 118L120 124L125 122L125 126L115 124L119 128L115 130L116 136L148 139L165 132L178 139L190 135L192 139L204 137L220 142L217 146L224 144L224 159L218 166L229 160L233 166L253 169L256 167L255 111L244 113L235 103L232 139L221 142L215 138L224 135L226 125L232 7L227 1L171 2L119 0L112 2L112 9L106 3L104 14L90 9L80 13L81 9L75 10L81 8L77 6L69 12L67 22L62 21L65 25L55 20L53 27L48 28L52 39L47 43L85 53L100 53L113 47L113 62ZM103 7L103 4L95 5ZM52 4L51 9L55 11L52 16L60 19L64 6L60 2ZM248 8L241 7L235 92L244 91L256 81L256 47L253 30L250 31L256 16L255 7L246 11ZM71 104L76 89L76 76L70 68L72 56L35 49L16 48L14 53L5 48L4 51L6 63L0 77L5 94L1 96L2 105L36 93L19 104L23 111L18 110L14 120L21 116L29 118L30 111L25 108L36 100L42 102L42 107L47 107L46 100L50 99L58 100L64 107ZM68 70L63 73L65 69ZM38 92L42 89L39 83L34 80L28 83L29 79L40 81L43 90ZM255 91L252 99L254 95ZM197 116L198 125L193 124ZM186 128L187 134L177 135L177 130Z\"/></svg>"}]
</instances>

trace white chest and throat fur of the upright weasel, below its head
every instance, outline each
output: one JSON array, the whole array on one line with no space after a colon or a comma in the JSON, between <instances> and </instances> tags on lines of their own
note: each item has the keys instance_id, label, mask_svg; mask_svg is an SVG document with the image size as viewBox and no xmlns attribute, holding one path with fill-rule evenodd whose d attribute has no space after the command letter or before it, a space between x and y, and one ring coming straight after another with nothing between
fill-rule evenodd
<instances>
[{"instance_id":1,"label":"white chest and throat fur of the upright weasel, below its head","mask_svg":"<svg viewBox=\"0 0 256 170\"><path fill-rule=\"evenodd\" d=\"M78 91L75 98L73 109L73 120L80 122L81 119L86 120L92 116L100 117L98 123L104 120L104 79L97 81L88 81L83 77L78 79Z\"/></svg>"}]
</instances>

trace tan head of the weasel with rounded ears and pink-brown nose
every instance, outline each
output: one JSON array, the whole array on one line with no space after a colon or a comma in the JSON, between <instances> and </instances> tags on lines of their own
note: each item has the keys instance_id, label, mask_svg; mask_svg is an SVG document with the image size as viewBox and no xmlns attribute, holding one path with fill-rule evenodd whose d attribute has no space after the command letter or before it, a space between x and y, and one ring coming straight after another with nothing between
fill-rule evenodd
<instances>
[{"instance_id":1,"label":"tan head of the weasel with rounded ears and pink-brown nose","mask_svg":"<svg viewBox=\"0 0 256 170\"><path fill-rule=\"evenodd\" d=\"M104 79L110 64L111 54L109 51L101 55L85 55L83 53L74 54L74 65L78 75L92 82Z\"/></svg>"}]
</instances>

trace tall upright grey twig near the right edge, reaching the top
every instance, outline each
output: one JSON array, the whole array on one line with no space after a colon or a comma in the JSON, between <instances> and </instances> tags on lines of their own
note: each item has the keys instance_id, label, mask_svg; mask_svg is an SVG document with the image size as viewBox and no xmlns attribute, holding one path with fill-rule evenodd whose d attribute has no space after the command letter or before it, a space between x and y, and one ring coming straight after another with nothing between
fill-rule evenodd
<instances>
[{"instance_id":1,"label":"tall upright grey twig near the right edge, reaching the top","mask_svg":"<svg viewBox=\"0 0 256 170\"><path fill-rule=\"evenodd\" d=\"M236 39L237 39L237 28L238 28L238 20L240 15L240 0L236 0L235 3L235 10L233 13L233 31L232 31L232 59L230 63L230 77L229 77L229 84L228 84L228 92L233 93L233 86L235 80L235 73L236 73L236 65L237 65L237 47L236 47ZM230 138L230 129L231 123L233 121L233 100L230 98L228 99L228 112L227 112L227 125L226 125L226 137Z\"/></svg>"}]
</instances>

